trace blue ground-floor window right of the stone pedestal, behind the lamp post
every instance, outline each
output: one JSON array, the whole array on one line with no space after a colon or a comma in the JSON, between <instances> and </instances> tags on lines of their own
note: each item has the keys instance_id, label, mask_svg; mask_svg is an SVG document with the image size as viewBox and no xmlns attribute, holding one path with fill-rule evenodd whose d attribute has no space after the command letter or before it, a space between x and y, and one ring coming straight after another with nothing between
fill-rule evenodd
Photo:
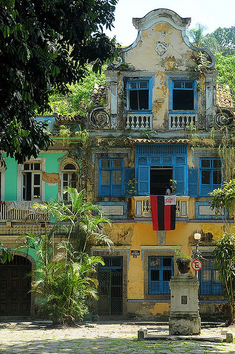
<instances>
[{"instance_id":1,"label":"blue ground-floor window right of the stone pedestal, behind the lamp post","mask_svg":"<svg viewBox=\"0 0 235 354\"><path fill-rule=\"evenodd\" d=\"M202 259L200 270L200 295L223 295L223 283L214 266L214 258Z\"/></svg>"}]
</instances>

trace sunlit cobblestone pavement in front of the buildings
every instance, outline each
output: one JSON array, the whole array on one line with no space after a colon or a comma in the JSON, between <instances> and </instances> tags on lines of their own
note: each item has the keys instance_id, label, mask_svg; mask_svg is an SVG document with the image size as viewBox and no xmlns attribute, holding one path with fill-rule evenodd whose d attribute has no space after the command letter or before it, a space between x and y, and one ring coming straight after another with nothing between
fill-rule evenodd
<instances>
[{"instance_id":1,"label":"sunlit cobblestone pavement in front of the buildings","mask_svg":"<svg viewBox=\"0 0 235 354\"><path fill-rule=\"evenodd\" d=\"M98 322L88 326L53 329L30 323L0 323L0 354L235 354L235 344L137 342L141 327L137 325ZM147 327L155 327L162 334L167 331L167 326ZM204 334L220 335L221 327L204 329Z\"/></svg>"}]
</instances>

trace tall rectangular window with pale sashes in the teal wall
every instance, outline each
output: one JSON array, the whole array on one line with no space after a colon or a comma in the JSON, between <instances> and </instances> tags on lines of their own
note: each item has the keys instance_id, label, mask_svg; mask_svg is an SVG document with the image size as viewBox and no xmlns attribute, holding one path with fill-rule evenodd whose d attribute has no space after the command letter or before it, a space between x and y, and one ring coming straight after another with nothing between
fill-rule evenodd
<instances>
[{"instance_id":1,"label":"tall rectangular window with pale sashes in the teal wall","mask_svg":"<svg viewBox=\"0 0 235 354\"><path fill-rule=\"evenodd\" d=\"M42 167L40 161L24 163L22 200L42 200Z\"/></svg>"}]
</instances>

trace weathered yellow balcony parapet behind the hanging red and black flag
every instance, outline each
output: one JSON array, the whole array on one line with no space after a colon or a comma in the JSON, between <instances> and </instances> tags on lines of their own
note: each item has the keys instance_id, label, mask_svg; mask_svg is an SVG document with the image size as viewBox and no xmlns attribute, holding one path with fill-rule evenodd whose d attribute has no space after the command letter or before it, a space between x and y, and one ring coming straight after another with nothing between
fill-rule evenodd
<instances>
[{"instance_id":1,"label":"weathered yellow balcony parapet behind the hanging red and black flag","mask_svg":"<svg viewBox=\"0 0 235 354\"><path fill-rule=\"evenodd\" d=\"M176 197L176 218L188 218L188 201L189 196ZM135 219L151 218L151 203L149 196L135 196Z\"/></svg>"}]
</instances>

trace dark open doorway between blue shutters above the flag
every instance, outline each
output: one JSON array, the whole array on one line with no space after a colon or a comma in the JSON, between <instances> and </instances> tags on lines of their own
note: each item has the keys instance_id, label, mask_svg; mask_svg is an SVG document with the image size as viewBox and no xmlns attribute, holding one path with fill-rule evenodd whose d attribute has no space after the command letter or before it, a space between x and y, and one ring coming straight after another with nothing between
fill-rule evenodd
<instances>
[{"instance_id":1,"label":"dark open doorway between blue shutters above the flag","mask_svg":"<svg viewBox=\"0 0 235 354\"><path fill-rule=\"evenodd\" d=\"M150 194L165 195L166 189L170 188L170 179L173 179L172 167L151 167L150 168Z\"/></svg>"}]
</instances>

